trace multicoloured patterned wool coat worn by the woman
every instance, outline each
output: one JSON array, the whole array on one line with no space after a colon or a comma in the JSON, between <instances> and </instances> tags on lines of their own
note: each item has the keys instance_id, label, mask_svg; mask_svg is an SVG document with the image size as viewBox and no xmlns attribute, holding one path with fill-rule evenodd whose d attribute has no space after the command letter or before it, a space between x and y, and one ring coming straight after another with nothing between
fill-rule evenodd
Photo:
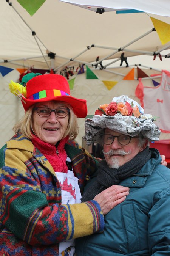
<instances>
[{"instance_id":1,"label":"multicoloured patterned wool coat worn by the woman","mask_svg":"<svg viewBox=\"0 0 170 256\"><path fill-rule=\"evenodd\" d=\"M75 141L65 150L81 192L97 160ZM99 204L61 205L54 170L31 140L15 135L0 150L0 255L57 256L59 242L104 230Z\"/></svg>"}]
</instances>

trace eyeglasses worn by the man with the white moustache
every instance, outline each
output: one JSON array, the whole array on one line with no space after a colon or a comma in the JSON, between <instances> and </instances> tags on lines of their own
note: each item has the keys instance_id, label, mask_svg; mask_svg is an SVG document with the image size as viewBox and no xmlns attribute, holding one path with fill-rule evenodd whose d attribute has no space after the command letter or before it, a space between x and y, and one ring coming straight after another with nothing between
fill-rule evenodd
<instances>
[{"instance_id":1,"label":"eyeglasses worn by the man with the white moustache","mask_svg":"<svg viewBox=\"0 0 170 256\"><path fill-rule=\"evenodd\" d=\"M128 145L131 141L131 138L141 138L141 136L131 137L131 136L124 135L124 134L121 134L119 136L113 136L111 134L104 134L104 135L102 135L102 141L105 145L111 145L113 143L115 137L117 137L117 140L119 141L119 143L122 146Z\"/></svg>"}]
</instances>

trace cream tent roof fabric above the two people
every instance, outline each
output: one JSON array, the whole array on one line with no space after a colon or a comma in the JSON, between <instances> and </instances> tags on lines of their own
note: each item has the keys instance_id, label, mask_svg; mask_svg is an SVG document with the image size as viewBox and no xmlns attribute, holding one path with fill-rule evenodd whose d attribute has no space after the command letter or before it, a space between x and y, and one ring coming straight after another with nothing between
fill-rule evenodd
<instances>
[{"instance_id":1,"label":"cream tent roof fabric above the two people","mask_svg":"<svg viewBox=\"0 0 170 256\"><path fill-rule=\"evenodd\" d=\"M168 10L169 0L158 2ZM3 66L53 68L59 72L65 66L95 65L97 56L98 63L114 58L119 65L122 52L124 57L144 55L147 64L147 56L161 53L164 58L162 51L170 49L170 41L161 43L150 18L170 26L170 17L116 12L101 15L59 0L46 0L31 17L17 0L9 3L2 0L0 8L0 65ZM149 3L153 1L147 1L147 6ZM170 30L166 35L170 36ZM50 52L55 54L55 60L48 56ZM169 59L166 61L168 64Z\"/></svg>"}]
</instances>

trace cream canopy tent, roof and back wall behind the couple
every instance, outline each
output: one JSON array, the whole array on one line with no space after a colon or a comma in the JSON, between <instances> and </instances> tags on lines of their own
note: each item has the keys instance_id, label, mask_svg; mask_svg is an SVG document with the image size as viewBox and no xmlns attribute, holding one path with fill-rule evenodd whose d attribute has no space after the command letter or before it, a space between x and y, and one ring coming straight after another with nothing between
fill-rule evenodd
<instances>
[{"instance_id":1,"label":"cream canopy tent, roof and back wall behind the couple","mask_svg":"<svg viewBox=\"0 0 170 256\"><path fill-rule=\"evenodd\" d=\"M0 98L3 123L1 145L11 136L12 126L23 115L17 97L8 89L9 81L16 81L19 77L16 69L32 66L34 70L53 69L60 73L66 66L70 69L74 67L74 75L69 77L69 81L76 77L71 94L87 99L88 115L92 115L103 102L111 101L113 96L128 94L136 99L137 75L133 80L123 80L135 64L141 64L141 68L148 67L145 72L149 76L153 73L161 75L161 69L170 70L170 50L164 53L165 49L170 49L170 17L150 13L117 14L112 11L101 15L59 0L46 0L31 17L17 0L8 2L3 0L0 8L0 82L3 87ZM162 6L167 1L163 2ZM153 29L150 17L158 20L158 31L164 28L165 37ZM162 38L168 41L162 44ZM127 57L129 68L125 68L125 61L120 67L122 53ZM137 58L136 62L131 63L131 58ZM148 63L149 58L151 64ZM101 62L104 69L99 70ZM158 66L155 68L156 62ZM164 68L161 68L162 63ZM86 65L85 69L89 67L99 79L86 79L85 73L78 76L82 64ZM110 69L113 64L117 67ZM108 90L102 81L117 83ZM156 81L160 82L160 78ZM144 85L147 84L154 86L151 79L145 80ZM79 143L84 135L83 123L80 120Z\"/></svg>"}]
</instances>

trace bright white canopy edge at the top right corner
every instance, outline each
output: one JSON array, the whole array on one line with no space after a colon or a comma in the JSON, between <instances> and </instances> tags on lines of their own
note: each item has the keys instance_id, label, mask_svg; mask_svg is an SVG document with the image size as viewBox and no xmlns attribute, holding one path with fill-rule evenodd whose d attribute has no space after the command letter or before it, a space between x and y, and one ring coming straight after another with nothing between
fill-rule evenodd
<instances>
[{"instance_id":1,"label":"bright white canopy edge at the top right corner","mask_svg":"<svg viewBox=\"0 0 170 256\"><path fill-rule=\"evenodd\" d=\"M119 9L135 9L162 16L170 16L169 0L60 0L66 3L76 4L83 8L94 11L96 8L105 8L105 11L113 11ZM91 7L91 8L90 8ZM95 8L96 7L96 8Z\"/></svg>"}]
</instances>

